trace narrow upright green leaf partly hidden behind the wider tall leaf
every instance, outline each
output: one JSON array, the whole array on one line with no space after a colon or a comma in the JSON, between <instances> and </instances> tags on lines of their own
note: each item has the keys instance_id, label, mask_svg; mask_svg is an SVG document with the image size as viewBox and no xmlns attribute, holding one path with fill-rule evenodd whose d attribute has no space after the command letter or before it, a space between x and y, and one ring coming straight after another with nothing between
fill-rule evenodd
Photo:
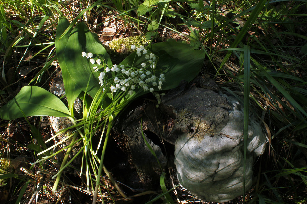
<instances>
[{"instance_id":1,"label":"narrow upright green leaf partly hidden behind the wider tall leaf","mask_svg":"<svg viewBox=\"0 0 307 204\"><path fill-rule=\"evenodd\" d=\"M82 90L72 80L72 77L69 75L66 63L64 61L65 46L67 44L68 37L72 29L69 30L67 34L63 35L61 39L60 36L68 28L69 25L70 24L68 20L66 20L65 18L59 18L59 23L56 28L56 56L60 64L60 68L62 70L62 77L68 102L68 109L72 111L74 102Z\"/></svg>"}]
</instances>

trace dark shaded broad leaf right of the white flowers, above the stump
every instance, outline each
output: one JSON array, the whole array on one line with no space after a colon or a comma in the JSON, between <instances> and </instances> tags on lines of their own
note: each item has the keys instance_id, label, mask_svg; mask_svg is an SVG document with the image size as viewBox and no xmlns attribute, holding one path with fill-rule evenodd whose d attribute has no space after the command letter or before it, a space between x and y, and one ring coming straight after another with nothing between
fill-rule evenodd
<instances>
[{"instance_id":1,"label":"dark shaded broad leaf right of the white flowers, above the stump","mask_svg":"<svg viewBox=\"0 0 307 204\"><path fill-rule=\"evenodd\" d=\"M147 46L146 49L153 52L157 57L156 70L163 70L165 82L162 89L172 89L178 86L181 80L191 81L199 73L204 62L205 53L203 50L194 50L192 46L185 43L165 42ZM135 60L134 57L136 56ZM145 58L138 57L136 52L124 59L121 64L140 67ZM132 62L134 63L132 64ZM156 74L157 76L160 75ZM157 88L156 90L157 91Z\"/></svg>"}]
</instances>

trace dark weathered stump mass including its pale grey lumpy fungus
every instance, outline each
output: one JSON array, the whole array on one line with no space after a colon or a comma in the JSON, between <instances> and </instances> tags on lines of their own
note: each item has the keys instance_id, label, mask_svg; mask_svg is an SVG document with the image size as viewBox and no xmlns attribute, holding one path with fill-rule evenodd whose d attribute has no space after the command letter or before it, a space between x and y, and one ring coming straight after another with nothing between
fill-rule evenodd
<instances>
[{"instance_id":1,"label":"dark weathered stump mass including its pale grey lumpy fungus","mask_svg":"<svg viewBox=\"0 0 307 204\"><path fill-rule=\"evenodd\" d=\"M175 145L177 177L183 187L207 201L226 202L243 193L243 110L235 99L218 93L217 85L201 76L182 82L161 99L129 107L115 130L127 138L127 148L140 179L150 184L172 156L162 141ZM264 151L266 138L261 126L250 120L245 190L252 185L252 163ZM172 148L169 148L172 149ZM172 163L172 161L170 161Z\"/></svg>"}]
</instances>

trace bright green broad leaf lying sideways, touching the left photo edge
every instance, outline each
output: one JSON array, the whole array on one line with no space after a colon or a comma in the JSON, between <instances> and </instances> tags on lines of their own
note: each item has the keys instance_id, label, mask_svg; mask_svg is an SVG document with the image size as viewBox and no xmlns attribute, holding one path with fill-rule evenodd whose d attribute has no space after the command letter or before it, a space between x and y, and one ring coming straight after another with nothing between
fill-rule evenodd
<instances>
[{"instance_id":1,"label":"bright green broad leaf lying sideways, touching the left photo edge","mask_svg":"<svg viewBox=\"0 0 307 204\"><path fill-rule=\"evenodd\" d=\"M20 106L25 116L70 116L67 107L59 98L49 91L36 86L22 87L10 102L0 108L0 117L3 120L24 117L18 106Z\"/></svg>"}]
</instances>

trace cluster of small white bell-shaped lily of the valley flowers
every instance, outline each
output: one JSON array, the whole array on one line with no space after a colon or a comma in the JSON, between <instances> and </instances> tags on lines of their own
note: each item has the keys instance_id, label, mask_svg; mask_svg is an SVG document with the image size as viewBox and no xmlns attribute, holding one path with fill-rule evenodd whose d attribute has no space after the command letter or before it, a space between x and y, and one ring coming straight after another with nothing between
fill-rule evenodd
<instances>
[{"instance_id":1,"label":"cluster of small white bell-shaped lily of the valley flowers","mask_svg":"<svg viewBox=\"0 0 307 204\"><path fill-rule=\"evenodd\" d=\"M165 76L162 72L155 69L157 57L145 49L144 46L137 48L135 45L131 45L131 48L132 50L136 49L138 57L142 57L142 54L145 55L145 61L141 64L142 68L131 67L129 65L113 65L110 68L108 65L102 65L100 59L95 60L92 58L92 53L82 52L82 56L90 58L90 62L97 65L94 67L94 71L103 68L98 77L99 83L100 86L111 85L111 92L127 90L132 95L138 88L150 92L153 92L156 87L157 89L162 89ZM110 84L110 76L112 77L112 84Z\"/></svg>"}]
</instances>

